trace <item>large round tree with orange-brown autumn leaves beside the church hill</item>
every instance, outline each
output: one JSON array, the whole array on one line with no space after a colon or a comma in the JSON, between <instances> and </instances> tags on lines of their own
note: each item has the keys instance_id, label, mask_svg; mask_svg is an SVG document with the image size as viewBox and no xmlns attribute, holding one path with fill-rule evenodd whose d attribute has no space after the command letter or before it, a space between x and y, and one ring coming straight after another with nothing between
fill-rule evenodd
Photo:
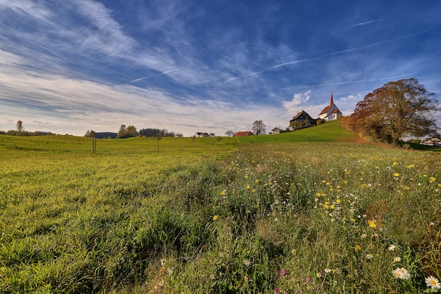
<instances>
[{"instance_id":1,"label":"large round tree with orange-brown autumn leaves beside the church hill","mask_svg":"<svg viewBox=\"0 0 441 294\"><path fill-rule=\"evenodd\" d=\"M359 132L396 145L403 136L436 134L432 115L438 109L435 93L427 91L417 79L400 79L367 94L356 104L351 117Z\"/></svg>"}]
</instances>

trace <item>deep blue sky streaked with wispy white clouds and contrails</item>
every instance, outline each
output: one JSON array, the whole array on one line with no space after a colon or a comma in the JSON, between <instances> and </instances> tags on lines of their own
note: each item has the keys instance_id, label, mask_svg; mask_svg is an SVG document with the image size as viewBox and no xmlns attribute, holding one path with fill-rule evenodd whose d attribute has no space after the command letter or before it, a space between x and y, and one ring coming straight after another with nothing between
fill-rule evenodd
<instances>
[{"instance_id":1,"label":"deep blue sky streaked with wispy white clouds and contrails","mask_svg":"<svg viewBox=\"0 0 441 294\"><path fill-rule=\"evenodd\" d=\"M440 1L0 0L0 130L287 127L415 77L441 95ZM440 117L440 115L437 115Z\"/></svg>"}]
</instances>

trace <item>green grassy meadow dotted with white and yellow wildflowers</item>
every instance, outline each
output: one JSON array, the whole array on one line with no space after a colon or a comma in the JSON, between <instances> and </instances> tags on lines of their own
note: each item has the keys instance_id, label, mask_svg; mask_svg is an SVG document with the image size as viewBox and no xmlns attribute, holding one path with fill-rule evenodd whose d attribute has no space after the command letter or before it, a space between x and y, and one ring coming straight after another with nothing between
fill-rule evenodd
<instances>
[{"instance_id":1,"label":"green grassy meadow dotted with white and yellow wildflowers","mask_svg":"<svg viewBox=\"0 0 441 294\"><path fill-rule=\"evenodd\" d=\"M246 138L0 136L2 293L422 293L441 153L338 122Z\"/></svg>"}]
</instances>

